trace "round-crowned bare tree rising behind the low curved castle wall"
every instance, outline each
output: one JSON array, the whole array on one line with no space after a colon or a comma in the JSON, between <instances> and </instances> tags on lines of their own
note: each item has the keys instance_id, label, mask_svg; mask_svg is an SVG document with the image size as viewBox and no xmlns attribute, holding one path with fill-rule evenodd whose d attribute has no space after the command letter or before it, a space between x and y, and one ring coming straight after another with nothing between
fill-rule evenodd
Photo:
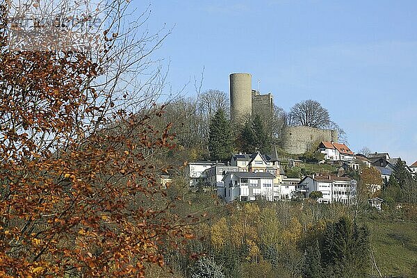
<instances>
[{"instance_id":1,"label":"round-crowned bare tree rising behind the low curved castle wall","mask_svg":"<svg viewBox=\"0 0 417 278\"><path fill-rule=\"evenodd\" d=\"M293 125L324 128L330 122L329 112L315 100L307 99L291 108L291 123Z\"/></svg>"}]
</instances>

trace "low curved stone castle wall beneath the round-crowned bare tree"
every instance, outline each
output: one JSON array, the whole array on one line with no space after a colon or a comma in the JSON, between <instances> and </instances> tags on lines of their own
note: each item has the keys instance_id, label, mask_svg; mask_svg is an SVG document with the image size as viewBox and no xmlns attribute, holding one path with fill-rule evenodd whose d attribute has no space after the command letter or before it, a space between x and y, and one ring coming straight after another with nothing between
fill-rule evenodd
<instances>
[{"instance_id":1,"label":"low curved stone castle wall beneath the round-crowned bare tree","mask_svg":"<svg viewBox=\"0 0 417 278\"><path fill-rule=\"evenodd\" d=\"M288 126L284 129L283 149L288 154L304 154L320 141L337 142L338 131L308 126ZM316 146L317 145L317 146Z\"/></svg>"}]
</instances>

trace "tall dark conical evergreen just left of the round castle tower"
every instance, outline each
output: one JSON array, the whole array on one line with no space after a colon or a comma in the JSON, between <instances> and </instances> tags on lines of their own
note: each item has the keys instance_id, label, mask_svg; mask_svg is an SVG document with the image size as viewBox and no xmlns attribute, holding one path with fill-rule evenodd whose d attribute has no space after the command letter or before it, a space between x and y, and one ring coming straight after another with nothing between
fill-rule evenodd
<instances>
[{"instance_id":1,"label":"tall dark conical evergreen just left of the round castle tower","mask_svg":"<svg viewBox=\"0 0 417 278\"><path fill-rule=\"evenodd\" d=\"M226 114L219 109L211 117L208 133L208 153L211 160L226 161L232 153L231 128Z\"/></svg>"}]
</instances>

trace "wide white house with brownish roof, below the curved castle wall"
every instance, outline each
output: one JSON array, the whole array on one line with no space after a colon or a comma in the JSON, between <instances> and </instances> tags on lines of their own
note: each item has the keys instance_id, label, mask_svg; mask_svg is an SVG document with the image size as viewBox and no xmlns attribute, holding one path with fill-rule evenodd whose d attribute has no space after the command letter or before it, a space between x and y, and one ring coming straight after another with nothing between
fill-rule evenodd
<instances>
[{"instance_id":1,"label":"wide white house with brownish roof, below the curved castle wall","mask_svg":"<svg viewBox=\"0 0 417 278\"><path fill-rule=\"evenodd\" d=\"M341 202L343 204L354 204L357 195L357 181L348 177L315 177L313 175L313 177L304 177L300 181L296 194L302 197L309 197L309 194L313 191L322 193L322 197L317 200L319 203Z\"/></svg>"}]
</instances>

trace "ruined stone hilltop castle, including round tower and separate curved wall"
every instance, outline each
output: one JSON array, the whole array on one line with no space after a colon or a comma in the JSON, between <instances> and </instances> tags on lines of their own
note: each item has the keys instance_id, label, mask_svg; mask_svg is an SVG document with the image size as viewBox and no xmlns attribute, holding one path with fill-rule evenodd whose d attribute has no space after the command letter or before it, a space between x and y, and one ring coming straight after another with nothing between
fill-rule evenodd
<instances>
[{"instance_id":1,"label":"ruined stone hilltop castle, including round tower and separate curved wall","mask_svg":"<svg viewBox=\"0 0 417 278\"><path fill-rule=\"evenodd\" d=\"M274 112L274 99L271 93L261 95L252 90L252 75L234 73L230 81L230 116L234 126L245 121L245 117L258 114L267 121ZM268 124L268 122L267 122ZM288 126L284 129L282 148L288 154L304 154L320 141L337 142L338 131L315 129L308 126Z\"/></svg>"}]
</instances>

